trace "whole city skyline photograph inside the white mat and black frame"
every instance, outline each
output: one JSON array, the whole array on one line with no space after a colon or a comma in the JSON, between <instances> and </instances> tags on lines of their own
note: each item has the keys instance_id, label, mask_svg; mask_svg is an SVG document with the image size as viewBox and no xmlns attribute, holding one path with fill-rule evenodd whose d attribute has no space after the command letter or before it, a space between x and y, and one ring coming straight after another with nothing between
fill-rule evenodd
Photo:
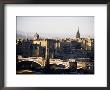
<instances>
[{"instance_id":1,"label":"whole city skyline photograph inside the white mat and black frame","mask_svg":"<svg viewBox=\"0 0 110 90\"><path fill-rule=\"evenodd\" d=\"M94 74L94 17L17 17L17 74Z\"/></svg>"}]
</instances>

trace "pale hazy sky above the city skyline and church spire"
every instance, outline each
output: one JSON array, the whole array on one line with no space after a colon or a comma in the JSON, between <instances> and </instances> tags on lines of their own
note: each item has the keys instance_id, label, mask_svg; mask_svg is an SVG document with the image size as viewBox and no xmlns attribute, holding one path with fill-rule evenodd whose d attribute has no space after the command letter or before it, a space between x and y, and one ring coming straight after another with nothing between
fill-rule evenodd
<instances>
[{"instance_id":1,"label":"pale hazy sky above the city skyline and church spire","mask_svg":"<svg viewBox=\"0 0 110 90\"><path fill-rule=\"evenodd\" d=\"M17 16L17 34L43 38L74 38L79 32L82 38L94 37L93 16Z\"/></svg>"}]
</instances>

